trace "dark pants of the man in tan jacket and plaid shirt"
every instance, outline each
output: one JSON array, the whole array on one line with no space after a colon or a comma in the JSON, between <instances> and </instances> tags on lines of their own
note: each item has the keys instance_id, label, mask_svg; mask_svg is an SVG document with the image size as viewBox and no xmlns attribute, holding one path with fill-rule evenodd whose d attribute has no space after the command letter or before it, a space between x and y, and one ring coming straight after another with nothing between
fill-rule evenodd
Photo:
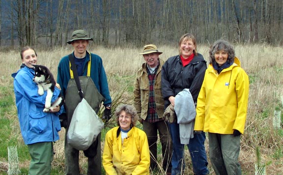
<instances>
[{"instance_id":1,"label":"dark pants of the man in tan jacket and plaid shirt","mask_svg":"<svg viewBox=\"0 0 283 175\"><path fill-rule=\"evenodd\" d=\"M162 120L154 123L143 120L143 131L146 133L150 150L150 168L157 167L157 132L162 146L163 170L171 172L172 142L167 123Z\"/></svg>"}]
</instances>

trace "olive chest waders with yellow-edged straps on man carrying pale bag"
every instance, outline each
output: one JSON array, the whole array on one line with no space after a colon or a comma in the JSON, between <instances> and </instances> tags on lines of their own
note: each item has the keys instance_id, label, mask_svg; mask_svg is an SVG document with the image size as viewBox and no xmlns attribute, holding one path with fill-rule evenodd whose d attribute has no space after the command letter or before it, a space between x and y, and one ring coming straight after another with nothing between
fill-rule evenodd
<instances>
[{"instance_id":1,"label":"olive chest waders with yellow-edged straps on man carrying pale bag","mask_svg":"<svg viewBox=\"0 0 283 175\"><path fill-rule=\"evenodd\" d=\"M89 54L90 56L90 54ZM73 57L73 56L72 56ZM69 56L69 59L70 56ZM74 65L74 58L72 60L72 65ZM73 116L73 113L81 102L81 96L78 91L78 87L76 81L74 79L77 75L76 71L71 70L71 62L70 65L70 76L71 79L68 82L68 86L65 93L65 109L68 117L68 125L66 128L66 133L69 129L69 125ZM88 104L92 107L92 109L98 113L101 102L105 99L97 90L94 82L90 77L90 65L91 65L91 57L87 64L87 76L79 77L80 85L83 91L83 96ZM69 146L66 144L66 135L65 135L65 161L66 161L66 174L67 175L77 175L79 174L79 150ZM101 146L100 146L100 134L97 136L96 141L89 146L88 149L84 150L84 154L88 157L88 165L87 165L87 175L101 174Z\"/></svg>"}]
</instances>

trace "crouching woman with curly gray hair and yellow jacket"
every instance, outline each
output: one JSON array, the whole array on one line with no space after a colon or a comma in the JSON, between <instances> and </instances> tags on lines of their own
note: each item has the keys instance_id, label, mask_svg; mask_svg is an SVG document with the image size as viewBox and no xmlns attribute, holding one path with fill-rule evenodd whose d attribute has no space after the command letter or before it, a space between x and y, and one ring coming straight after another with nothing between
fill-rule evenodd
<instances>
[{"instance_id":1,"label":"crouching woman with curly gray hair and yellow jacket","mask_svg":"<svg viewBox=\"0 0 283 175\"><path fill-rule=\"evenodd\" d=\"M106 133L102 162L106 175L149 175L146 134L135 127L137 111L121 105L115 111L118 126Z\"/></svg>"}]
</instances>

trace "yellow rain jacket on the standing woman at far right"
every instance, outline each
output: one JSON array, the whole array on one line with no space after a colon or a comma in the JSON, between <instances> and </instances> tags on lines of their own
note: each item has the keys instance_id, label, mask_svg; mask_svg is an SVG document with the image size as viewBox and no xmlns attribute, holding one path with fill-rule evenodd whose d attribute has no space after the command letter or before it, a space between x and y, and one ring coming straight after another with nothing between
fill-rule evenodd
<instances>
[{"instance_id":1,"label":"yellow rain jacket on the standing woman at far right","mask_svg":"<svg viewBox=\"0 0 283 175\"><path fill-rule=\"evenodd\" d=\"M198 95L196 131L218 134L244 133L249 97L249 77L235 57L220 74L209 64Z\"/></svg>"}]
</instances>

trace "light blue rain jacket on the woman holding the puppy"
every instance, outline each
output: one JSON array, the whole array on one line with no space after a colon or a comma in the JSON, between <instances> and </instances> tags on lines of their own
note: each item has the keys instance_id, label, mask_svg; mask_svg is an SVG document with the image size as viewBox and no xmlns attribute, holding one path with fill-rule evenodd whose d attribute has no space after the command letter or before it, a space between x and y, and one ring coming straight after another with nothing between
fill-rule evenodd
<instances>
[{"instance_id":1,"label":"light blue rain jacket on the woman holding the puppy","mask_svg":"<svg viewBox=\"0 0 283 175\"><path fill-rule=\"evenodd\" d=\"M38 95L38 87L32 81L33 69L25 66L12 76L19 123L25 144L59 140L58 131L61 130L61 126L58 115L63 111L63 107L58 113L43 112L47 92ZM56 87L52 102L57 99L59 93L60 90Z\"/></svg>"}]
</instances>

